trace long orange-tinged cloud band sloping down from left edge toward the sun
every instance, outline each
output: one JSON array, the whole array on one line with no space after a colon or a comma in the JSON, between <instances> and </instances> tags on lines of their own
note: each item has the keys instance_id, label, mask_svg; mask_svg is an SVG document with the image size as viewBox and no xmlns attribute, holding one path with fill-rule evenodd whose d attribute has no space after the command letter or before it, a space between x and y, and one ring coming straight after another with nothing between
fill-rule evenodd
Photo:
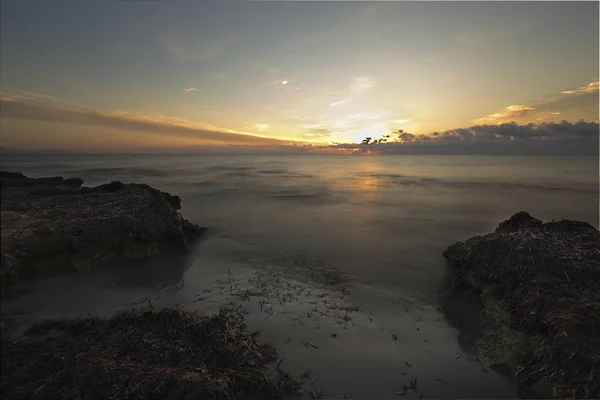
<instances>
[{"instance_id":1,"label":"long orange-tinged cloud band sloping down from left edge toward the sun","mask_svg":"<svg viewBox=\"0 0 600 400\"><path fill-rule=\"evenodd\" d=\"M162 115L36 104L11 95L3 95L0 99L2 118L99 126L233 144L277 145L289 142Z\"/></svg>"}]
</instances>

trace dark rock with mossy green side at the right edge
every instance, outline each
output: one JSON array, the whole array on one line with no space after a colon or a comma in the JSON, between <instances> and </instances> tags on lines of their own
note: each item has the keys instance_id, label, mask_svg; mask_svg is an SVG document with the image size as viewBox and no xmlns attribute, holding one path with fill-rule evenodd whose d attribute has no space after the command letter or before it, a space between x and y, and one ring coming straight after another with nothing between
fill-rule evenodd
<instances>
[{"instance_id":1,"label":"dark rock with mossy green side at the right edge","mask_svg":"<svg viewBox=\"0 0 600 400\"><path fill-rule=\"evenodd\" d=\"M481 291L490 362L523 397L600 398L600 232L526 212L444 251L456 278Z\"/></svg>"}]
</instances>

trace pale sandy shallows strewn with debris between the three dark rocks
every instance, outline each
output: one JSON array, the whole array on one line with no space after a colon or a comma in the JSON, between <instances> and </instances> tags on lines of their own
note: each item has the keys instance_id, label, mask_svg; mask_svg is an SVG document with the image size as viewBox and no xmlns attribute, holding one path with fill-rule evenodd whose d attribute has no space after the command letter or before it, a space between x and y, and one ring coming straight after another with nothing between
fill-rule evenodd
<instances>
[{"instance_id":1,"label":"pale sandy shallows strewn with debris between the three dark rocks","mask_svg":"<svg viewBox=\"0 0 600 400\"><path fill-rule=\"evenodd\" d=\"M127 307L207 314L226 307L278 349L281 368L303 383L300 398L516 397L451 326L438 299L354 282L320 260L263 260L225 248L232 248L226 237L209 234L193 252L42 277L2 301L3 320L16 334L42 319Z\"/></svg>"}]
</instances>

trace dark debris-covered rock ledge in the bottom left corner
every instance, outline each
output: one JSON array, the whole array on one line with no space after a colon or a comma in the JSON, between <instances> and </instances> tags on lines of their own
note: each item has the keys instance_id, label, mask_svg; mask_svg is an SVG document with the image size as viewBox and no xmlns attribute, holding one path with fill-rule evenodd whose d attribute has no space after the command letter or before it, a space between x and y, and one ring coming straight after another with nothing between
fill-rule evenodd
<instances>
[{"instance_id":1,"label":"dark debris-covered rock ledge in the bottom left corner","mask_svg":"<svg viewBox=\"0 0 600 400\"><path fill-rule=\"evenodd\" d=\"M2 340L1 397L263 400L296 392L279 364L268 368L277 351L256 336L241 314L223 310L46 321Z\"/></svg>"}]
</instances>

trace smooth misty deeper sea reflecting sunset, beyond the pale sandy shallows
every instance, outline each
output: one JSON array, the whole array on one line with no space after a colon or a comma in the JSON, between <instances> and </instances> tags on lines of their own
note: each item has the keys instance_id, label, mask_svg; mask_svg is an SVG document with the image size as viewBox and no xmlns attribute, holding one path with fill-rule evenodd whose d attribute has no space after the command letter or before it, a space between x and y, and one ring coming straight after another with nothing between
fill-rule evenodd
<instances>
[{"instance_id":1,"label":"smooth misty deeper sea reflecting sunset, beyond the pale sandy shallows","mask_svg":"<svg viewBox=\"0 0 600 400\"><path fill-rule=\"evenodd\" d=\"M226 238L220 252L301 255L411 295L437 290L446 246L519 210L598 227L595 157L36 155L2 168L148 183Z\"/></svg>"}]
</instances>

